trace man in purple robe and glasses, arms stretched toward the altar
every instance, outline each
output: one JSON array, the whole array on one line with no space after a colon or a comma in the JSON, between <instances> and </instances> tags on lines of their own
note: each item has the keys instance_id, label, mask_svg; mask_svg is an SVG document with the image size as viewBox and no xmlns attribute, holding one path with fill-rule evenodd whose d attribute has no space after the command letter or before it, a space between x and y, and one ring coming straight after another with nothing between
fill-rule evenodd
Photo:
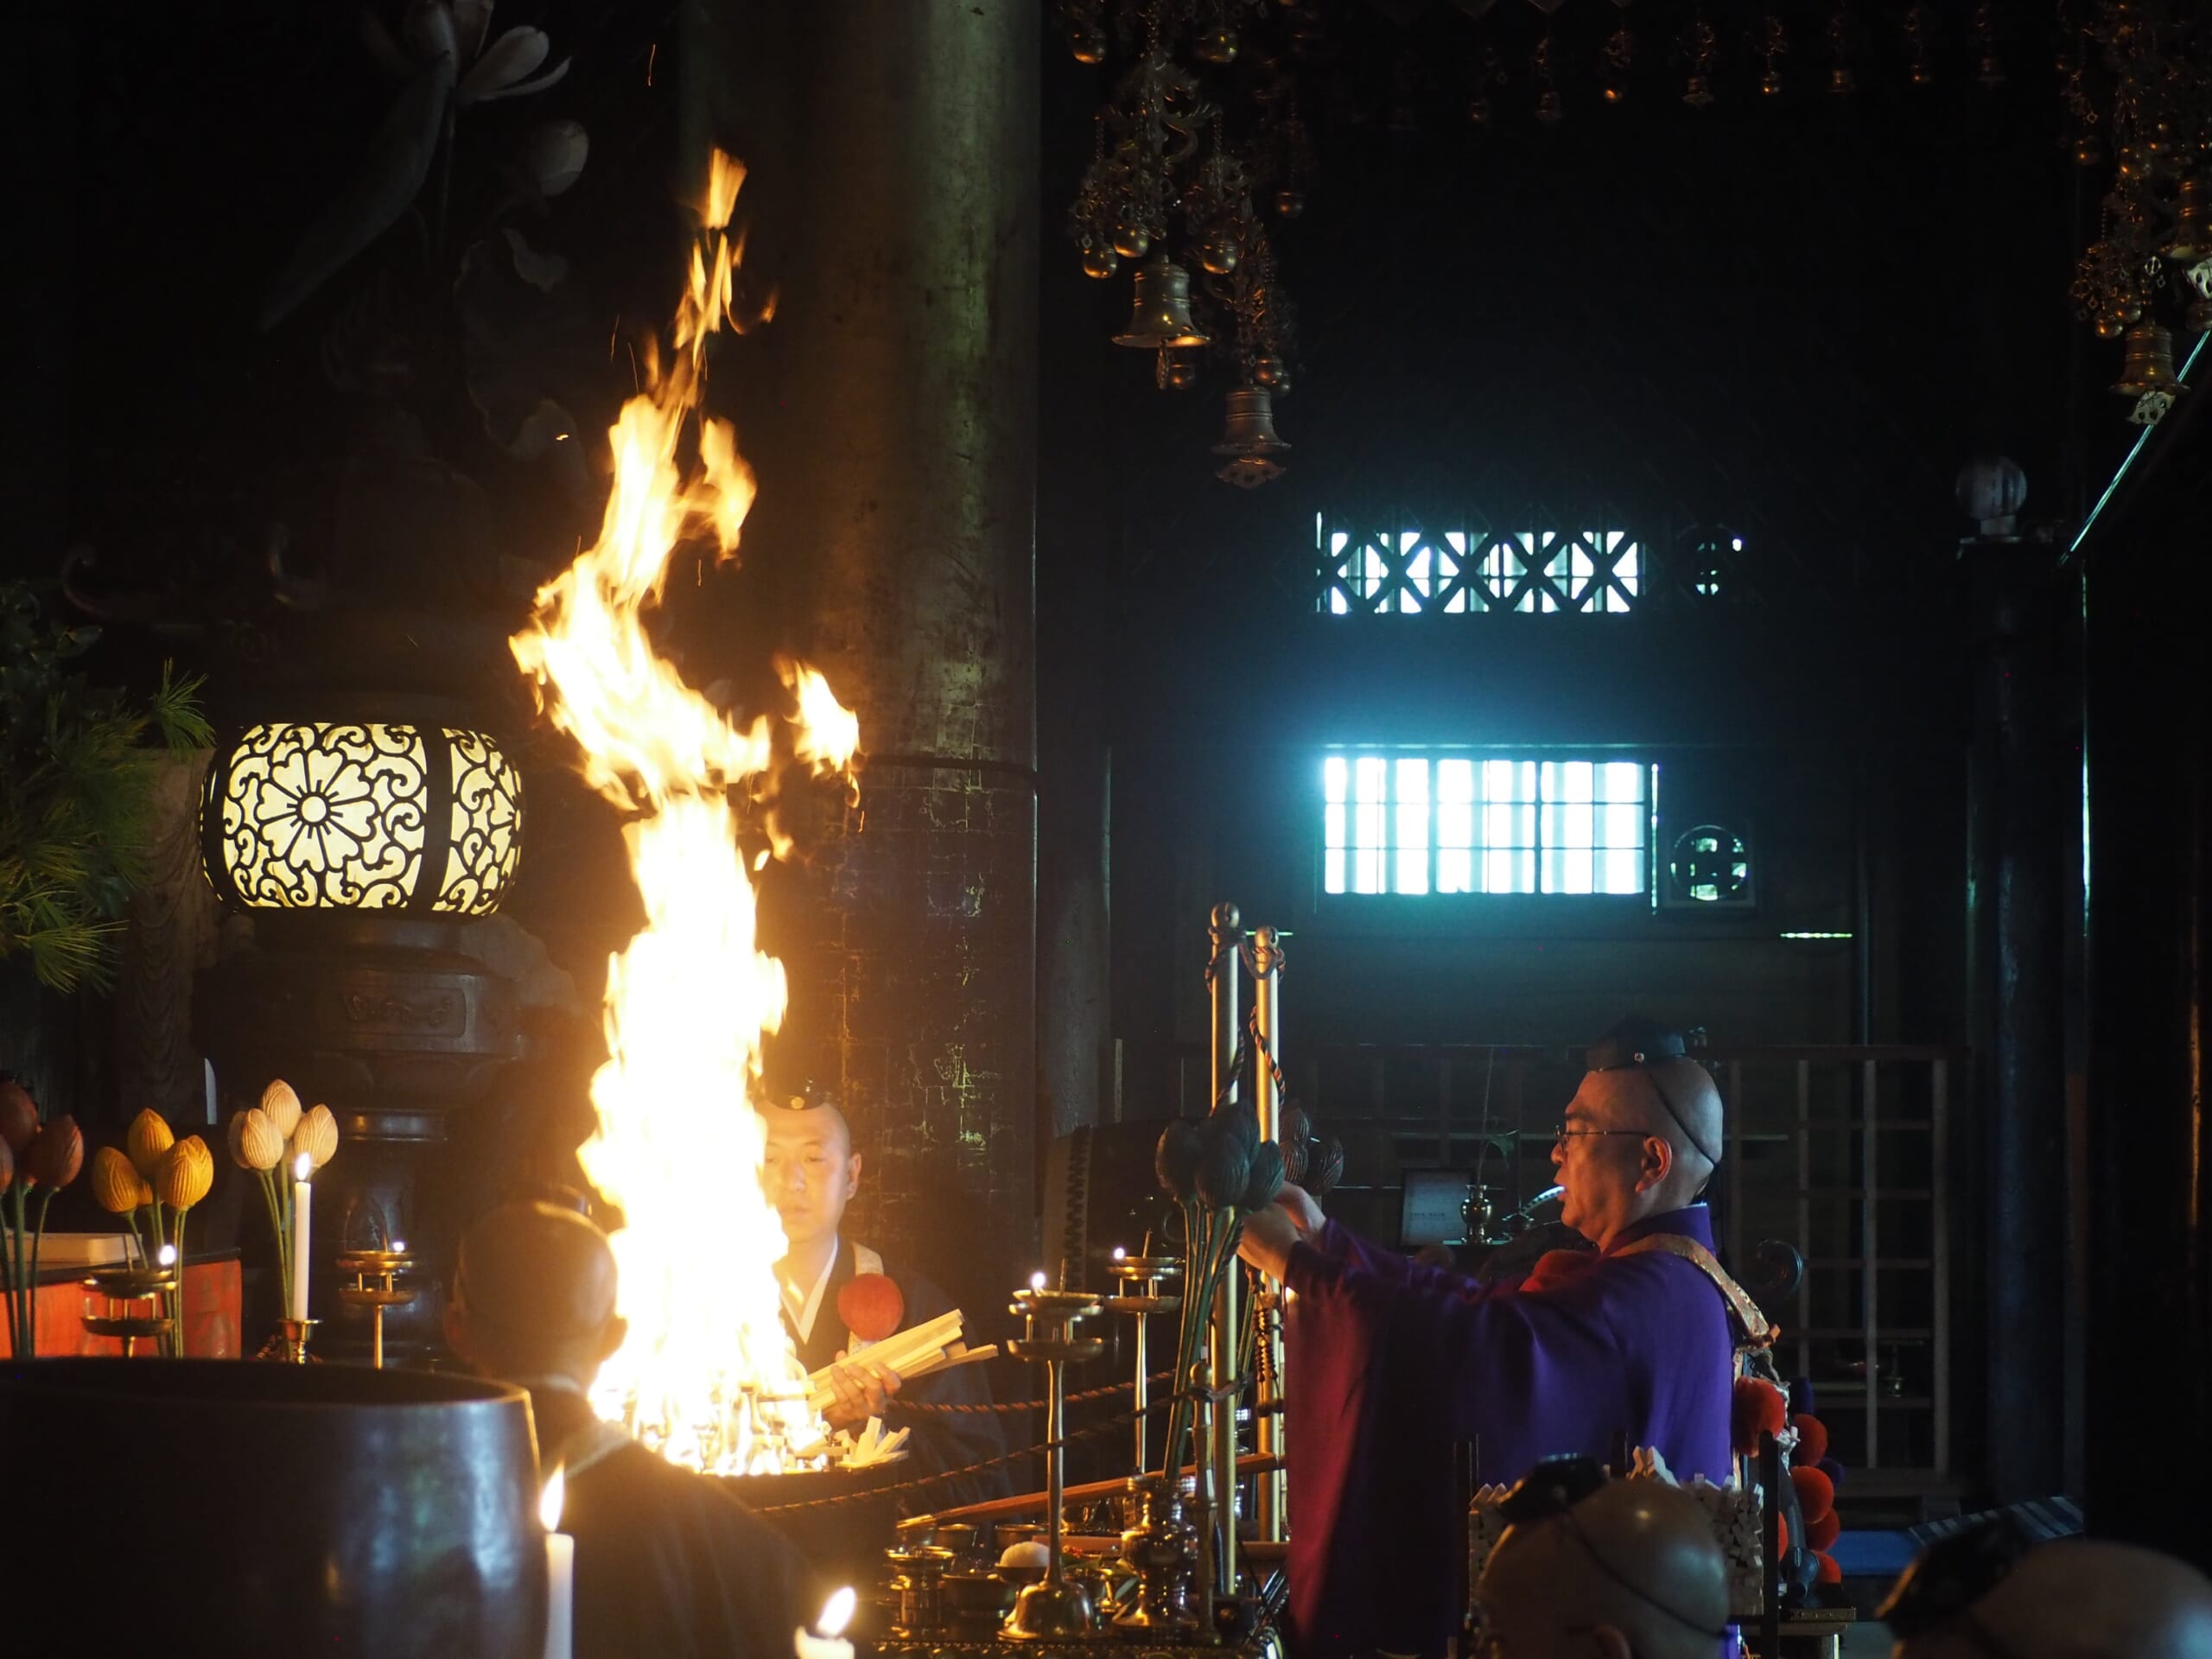
<instances>
[{"instance_id":1,"label":"man in purple robe and glasses, arms stretched toward the altar","mask_svg":"<svg viewBox=\"0 0 2212 1659\"><path fill-rule=\"evenodd\" d=\"M1606 1458L1619 1436L1681 1480L1730 1475L1739 1323L1697 1261L1712 1263L1697 1197L1721 1097L1681 1037L1644 1022L1590 1053L1551 1157L1562 1221L1595 1252L1484 1287L1356 1239L1294 1186L1245 1223L1243 1259L1296 1298L1283 1398L1301 1659L1444 1652L1460 1619L1453 1442L1473 1442L1478 1482L1551 1453Z\"/></svg>"}]
</instances>

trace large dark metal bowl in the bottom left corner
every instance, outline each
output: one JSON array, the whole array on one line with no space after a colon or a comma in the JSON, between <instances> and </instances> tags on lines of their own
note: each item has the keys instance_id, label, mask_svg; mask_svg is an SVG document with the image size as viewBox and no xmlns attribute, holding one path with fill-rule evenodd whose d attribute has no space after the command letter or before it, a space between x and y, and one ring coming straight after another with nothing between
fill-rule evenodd
<instances>
[{"instance_id":1,"label":"large dark metal bowl in the bottom left corner","mask_svg":"<svg viewBox=\"0 0 2212 1659\"><path fill-rule=\"evenodd\" d=\"M0 1579L38 1610L20 1628L40 1650L544 1648L520 1389L349 1365L4 1365L0 1484Z\"/></svg>"}]
</instances>

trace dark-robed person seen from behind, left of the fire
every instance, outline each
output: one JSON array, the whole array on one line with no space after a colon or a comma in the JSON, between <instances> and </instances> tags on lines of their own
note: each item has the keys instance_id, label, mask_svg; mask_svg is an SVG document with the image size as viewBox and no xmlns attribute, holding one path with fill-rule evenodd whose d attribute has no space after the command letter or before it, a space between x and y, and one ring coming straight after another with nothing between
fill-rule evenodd
<instances>
[{"instance_id":1,"label":"dark-robed person seen from behind, left of the fire","mask_svg":"<svg viewBox=\"0 0 2212 1659\"><path fill-rule=\"evenodd\" d=\"M721 1482L593 1416L624 1329L615 1254L573 1210L507 1203L462 1241L445 1336L478 1376L531 1391L538 1462L564 1469L575 1659L790 1659L816 1588L790 1544Z\"/></svg>"}]
</instances>

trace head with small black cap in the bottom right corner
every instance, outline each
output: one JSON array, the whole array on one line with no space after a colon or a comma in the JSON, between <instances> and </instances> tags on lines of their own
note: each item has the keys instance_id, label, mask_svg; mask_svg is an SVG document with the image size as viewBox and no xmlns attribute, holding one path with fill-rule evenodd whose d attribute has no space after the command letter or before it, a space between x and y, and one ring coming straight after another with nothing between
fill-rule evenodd
<instances>
[{"instance_id":1,"label":"head with small black cap in the bottom right corner","mask_svg":"<svg viewBox=\"0 0 2212 1659\"><path fill-rule=\"evenodd\" d=\"M2132 1544L2033 1542L2008 1515L1929 1544L1880 1617L1896 1659L2212 1659L2212 1579Z\"/></svg>"}]
</instances>

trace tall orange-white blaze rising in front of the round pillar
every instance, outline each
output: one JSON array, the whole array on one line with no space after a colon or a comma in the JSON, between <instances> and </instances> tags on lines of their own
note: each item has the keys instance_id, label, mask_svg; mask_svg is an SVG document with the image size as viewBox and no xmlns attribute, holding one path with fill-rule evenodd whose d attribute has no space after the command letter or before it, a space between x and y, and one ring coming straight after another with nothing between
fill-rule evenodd
<instances>
[{"instance_id":1,"label":"tall orange-white blaze rising in front of the round pillar","mask_svg":"<svg viewBox=\"0 0 2212 1659\"><path fill-rule=\"evenodd\" d=\"M613 489L599 540L538 593L515 661L586 781L628 814L624 838L646 927L606 973L608 1060L591 1084L593 1183L622 1206L615 1234L628 1340L593 1405L675 1462L717 1473L792 1467L823 1440L781 1323L783 1225L761 1192L765 1133L752 1110L761 1042L783 1022L783 964L761 949L732 792L774 799L779 745L763 714L739 723L653 650L644 615L668 560L712 538L737 553L754 480L728 420L699 411L706 343L734 327L741 246L728 223L743 168L714 155L703 234L677 307L672 354L611 431ZM860 728L805 664L787 752L845 776ZM790 843L761 825L781 852Z\"/></svg>"}]
</instances>

